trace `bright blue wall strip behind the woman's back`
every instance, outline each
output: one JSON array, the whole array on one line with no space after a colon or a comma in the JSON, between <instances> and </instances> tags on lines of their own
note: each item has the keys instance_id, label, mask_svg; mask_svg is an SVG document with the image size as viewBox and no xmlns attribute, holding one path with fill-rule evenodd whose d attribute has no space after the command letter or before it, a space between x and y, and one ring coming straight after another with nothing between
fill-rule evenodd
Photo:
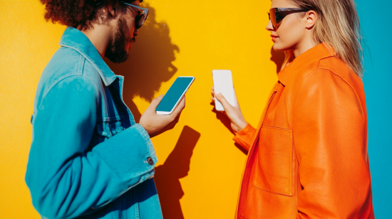
<instances>
[{"instance_id":1,"label":"bright blue wall strip behind the woman's back","mask_svg":"<svg viewBox=\"0 0 392 219\"><path fill-rule=\"evenodd\" d=\"M368 153L376 218L392 218L392 1L356 0L365 42ZM366 49L366 43L368 49Z\"/></svg>"}]
</instances>

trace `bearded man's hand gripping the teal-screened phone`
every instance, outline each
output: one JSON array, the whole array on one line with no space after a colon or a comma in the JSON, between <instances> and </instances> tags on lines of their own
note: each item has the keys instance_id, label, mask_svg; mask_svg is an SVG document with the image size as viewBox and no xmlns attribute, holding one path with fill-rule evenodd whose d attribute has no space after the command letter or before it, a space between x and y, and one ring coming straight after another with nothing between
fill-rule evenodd
<instances>
[{"instance_id":1,"label":"bearded man's hand gripping the teal-screened phone","mask_svg":"<svg viewBox=\"0 0 392 219\"><path fill-rule=\"evenodd\" d=\"M150 106L145 110L142 117L140 117L139 124L148 132L150 137L155 137L158 134L162 134L167 130L175 127L178 120L180 119L180 114L185 108L185 96L182 97L181 102L177 105L177 108L170 115L157 114L156 109L162 100L163 95L155 98Z\"/></svg>"}]
</instances>

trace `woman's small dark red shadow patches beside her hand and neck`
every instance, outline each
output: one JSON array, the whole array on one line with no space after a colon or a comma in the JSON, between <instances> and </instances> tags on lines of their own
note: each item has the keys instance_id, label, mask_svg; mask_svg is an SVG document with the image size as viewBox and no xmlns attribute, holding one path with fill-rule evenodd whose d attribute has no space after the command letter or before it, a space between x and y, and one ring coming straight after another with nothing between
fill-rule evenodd
<instances>
[{"instance_id":1,"label":"woman's small dark red shadow patches beside her hand and neck","mask_svg":"<svg viewBox=\"0 0 392 219\"><path fill-rule=\"evenodd\" d=\"M283 51L275 51L274 48L271 48L271 58L270 60L272 60L275 65L277 65L277 73L280 72L283 62L284 62L284 52ZM239 100L240 102L240 100ZM231 122L230 119L227 117L226 114L224 114L223 112L219 112L215 109L215 102L211 102L211 105L214 106L214 108L212 109L212 112L215 112L217 119L220 120L220 122L222 122L222 124L229 130L229 132L232 132L232 134L234 134L234 131L232 129L231 126ZM235 146L237 146L237 148L239 150L242 151L242 153L247 154L247 151L245 149L242 148L242 146L239 146L239 144L234 143Z\"/></svg>"}]
</instances>

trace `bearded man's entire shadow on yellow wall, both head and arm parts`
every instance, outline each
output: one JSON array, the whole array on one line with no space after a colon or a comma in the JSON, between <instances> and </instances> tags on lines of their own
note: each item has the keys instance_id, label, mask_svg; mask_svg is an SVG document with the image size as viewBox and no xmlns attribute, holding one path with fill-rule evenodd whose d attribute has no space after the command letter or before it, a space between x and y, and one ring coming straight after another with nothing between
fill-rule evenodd
<instances>
[{"instance_id":1,"label":"bearded man's entire shadow on yellow wall, both head and arm parts","mask_svg":"<svg viewBox=\"0 0 392 219\"><path fill-rule=\"evenodd\" d=\"M178 46L171 42L167 24L158 23L155 9L148 4L145 7L150 9L148 19L130 48L128 60L115 64L105 58L115 74L125 77L123 100L135 117L135 122L139 122L141 113L133 98L140 96L149 102L153 100L162 82L170 80L177 72L172 61L175 60L175 53L180 52ZM155 168L154 180L164 218L184 218L180 205L180 199L184 196L180 178L190 171L190 158L199 138L199 132L185 126L175 149L163 165Z\"/></svg>"}]
</instances>

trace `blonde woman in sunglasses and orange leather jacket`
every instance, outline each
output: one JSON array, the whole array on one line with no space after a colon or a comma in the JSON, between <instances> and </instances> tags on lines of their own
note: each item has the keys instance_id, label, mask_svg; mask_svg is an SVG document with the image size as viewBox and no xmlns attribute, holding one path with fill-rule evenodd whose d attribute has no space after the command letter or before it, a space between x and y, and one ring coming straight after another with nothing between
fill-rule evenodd
<instances>
[{"instance_id":1,"label":"blonde woman in sunglasses and orange leather jacket","mask_svg":"<svg viewBox=\"0 0 392 219\"><path fill-rule=\"evenodd\" d=\"M272 0L286 59L257 129L212 87L248 151L236 218L374 218L354 0Z\"/></svg>"}]
</instances>

